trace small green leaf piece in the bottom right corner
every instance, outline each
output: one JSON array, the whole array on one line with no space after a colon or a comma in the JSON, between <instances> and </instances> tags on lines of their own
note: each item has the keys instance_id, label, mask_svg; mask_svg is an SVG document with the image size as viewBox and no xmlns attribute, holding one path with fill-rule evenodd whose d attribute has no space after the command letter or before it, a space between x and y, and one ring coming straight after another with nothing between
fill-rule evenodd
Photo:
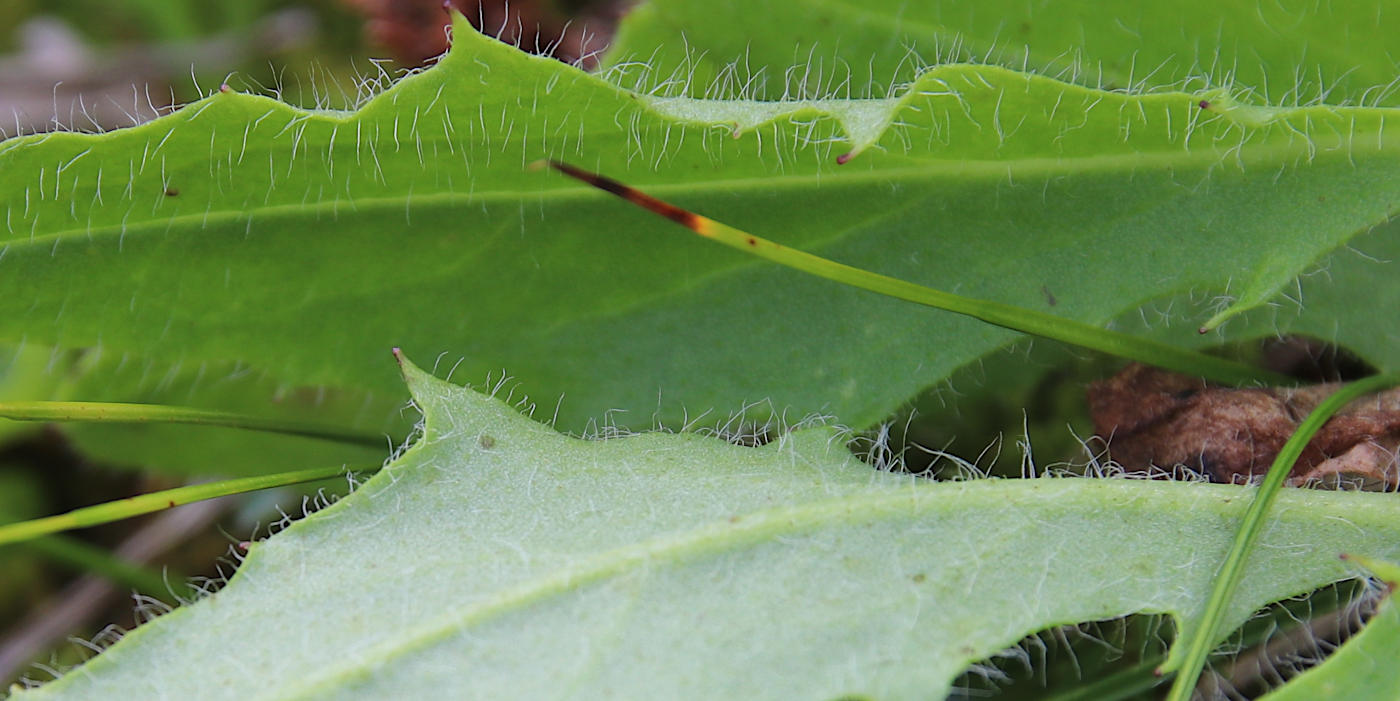
<instances>
[{"instance_id":1,"label":"small green leaf piece in the bottom right corner","mask_svg":"<svg viewBox=\"0 0 1400 701\"><path fill-rule=\"evenodd\" d=\"M1333 652L1322 665L1303 672L1288 684L1263 697L1263 701L1312 701L1345 698L1382 701L1400 698L1396 688L1396 659L1400 659L1400 610L1394 604L1394 586L1400 568L1380 562L1376 576L1392 589L1380 602L1366 627ZM1382 571L1383 569L1383 571Z\"/></svg>"}]
</instances>

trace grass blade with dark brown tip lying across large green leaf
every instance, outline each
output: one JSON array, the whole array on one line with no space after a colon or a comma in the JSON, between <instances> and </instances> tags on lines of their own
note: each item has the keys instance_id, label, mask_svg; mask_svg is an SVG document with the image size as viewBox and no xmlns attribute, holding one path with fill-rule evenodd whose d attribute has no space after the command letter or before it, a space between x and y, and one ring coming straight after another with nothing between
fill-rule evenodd
<instances>
[{"instance_id":1,"label":"grass blade with dark brown tip lying across large green leaf","mask_svg":"<svg viewBox=\"0 0 1400 701\"><path fill-rule=\"evenodd\" d=\"M1040 336L1096 350L1109 355L1135 360L1138 362L1156 365L1176 372L1197 375L1215 382L1229 385L1294 383L1294 381L1285 375L1253 368L1242 362L1177 348L1149 339L1140 339L1124 333L1110 332L1107 329L1065 319L1063 316L944 292L941 290L918 285L906 280L897 280L879 273L871 273L868 270L847 266L844 263L837 263L834 260L827 260L812 253L755 236L753 234L721 224L708 217L701 217L700 214L658 200L641 190L610 178L605 178L559 161L547 162L552 168L564 175L616 194L641 208L675 221L676 224L680 224L704 238L836 283L932 306L935 309L972 316L1014 332L1029 333L1032 336Z\"/></svg>"}]
</instances>

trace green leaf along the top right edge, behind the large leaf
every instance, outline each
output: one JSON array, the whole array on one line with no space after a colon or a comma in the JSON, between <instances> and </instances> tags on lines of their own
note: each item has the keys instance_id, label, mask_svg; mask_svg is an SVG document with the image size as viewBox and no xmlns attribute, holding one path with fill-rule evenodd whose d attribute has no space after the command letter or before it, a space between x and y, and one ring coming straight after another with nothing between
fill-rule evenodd
<instances>
[{"instance_id":1,"label":"green leaf along the top right edge, behind the large leaf","mask_svg":"<svg viewBox=\"0 0 1400 701\"><path fill-rule=\"evenodd\" d=\"M1386 0L648 0L602 63L692 97L885 95L928 64L986 62L1114 90L1394 106L1396 21Z\"/></svg>"}]
</instances>

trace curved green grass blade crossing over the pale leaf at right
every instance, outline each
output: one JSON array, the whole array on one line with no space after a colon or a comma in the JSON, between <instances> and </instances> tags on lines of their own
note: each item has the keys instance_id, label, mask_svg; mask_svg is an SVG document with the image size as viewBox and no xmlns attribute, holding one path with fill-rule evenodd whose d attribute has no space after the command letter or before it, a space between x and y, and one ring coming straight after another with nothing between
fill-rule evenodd
<instances>
[{"instance_id":1,"label":"curved green grass blade crossing over the pale leaf at right","mask_svg":"<svg viewBox=\"0 0 1400 701\"><path fill-rule=\"evenodd\" d=\"M1205 603L1205 613L1200 627L1196 628L1196 634L1190 639L1190 645L1186 648L1186 656L1182 660L1176 680L1172 683L1172 691L1166 697L1168 701L1189 701L1191 698L1196 681L1201 670L1205 669L1205 658L1210 656L1217 639L1219 639L1218 632L1221 621L1225 617L1225 607L1229 604L1229 597L1235 593L1235 586L1239 585L1239 579L1245 572L1245 560L1253 548L1254 540L1259 539L1260 530L1264 527L1264 516L1268 514L1268 507L1273 505L1274 497L1278 495L1278 490L1284 486L1284 480L1292 472L1294 463L1298 462L1298 456L1302 455L1303 448L1317 434L1317 430L1341 407L1347 406L1347 403L1362 395L1379 392L1394 385L1400 385L1400 374L1376 375L1338 389L1308 414L1308 418L1298 425L1294 435L1278 451L1278 458L1268 467L1264 481L1260 483L1259 491L1254 493L1254 500L1249 504L1249 511L1245 512L1245 519L1235 534L1229 554L1225 555L1225 562L1215 574L1215 586L1211 589L1211 597ZM1163 672L1170 670L1163 669Z\"/></svg>"}]
</instances>

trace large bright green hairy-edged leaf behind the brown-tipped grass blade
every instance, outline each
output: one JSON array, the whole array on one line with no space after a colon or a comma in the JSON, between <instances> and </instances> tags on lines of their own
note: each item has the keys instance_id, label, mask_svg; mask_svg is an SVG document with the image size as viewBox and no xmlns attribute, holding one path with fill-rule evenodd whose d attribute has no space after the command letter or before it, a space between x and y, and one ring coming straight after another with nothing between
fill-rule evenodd
<instances>
[{"instance_id":1,"label":"large bright green hairy-edged leaf behind the brown-tipped grass blade","mask_svg":"<svg viewBox=\"0 0 1400 701\"><path fill-rule=\"evenodd\" d=\"M1400 185L1383 109L1246 125L1201 95L960 64L889 101L679 104L456 32L354 113L216 94L0 146L0 339L375 396L398 392L379 358L399 344L469 381L510 371L542 411L563 396L570 431L763 400L868 425L1014 334L748 260L524 165L575 161L787 245L1091 323L1186 290L1267 299L1385 220Z\"/></svg>"}]
</instances>

